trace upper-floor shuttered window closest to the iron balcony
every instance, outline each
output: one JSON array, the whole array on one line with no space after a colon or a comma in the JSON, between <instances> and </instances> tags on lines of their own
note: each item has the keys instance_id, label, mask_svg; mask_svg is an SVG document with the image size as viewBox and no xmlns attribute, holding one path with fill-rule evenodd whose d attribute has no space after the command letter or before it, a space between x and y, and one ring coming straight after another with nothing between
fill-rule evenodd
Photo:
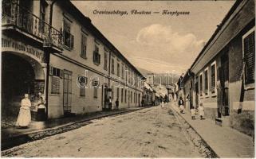
<instances>
[{"instance_id":1,"label":"upper-floor shuttered window closest to the iron balcony","mask_svg":"<svg viewBox=\"0 0 256 159\"><path fill-rule=\"evenodd\" d=\"M74 37L71 34L70 22L67 20L63 21L63 38L64 38L64 45L67 46L68 48L73 49Z\"/></svg>"}]
</instances>

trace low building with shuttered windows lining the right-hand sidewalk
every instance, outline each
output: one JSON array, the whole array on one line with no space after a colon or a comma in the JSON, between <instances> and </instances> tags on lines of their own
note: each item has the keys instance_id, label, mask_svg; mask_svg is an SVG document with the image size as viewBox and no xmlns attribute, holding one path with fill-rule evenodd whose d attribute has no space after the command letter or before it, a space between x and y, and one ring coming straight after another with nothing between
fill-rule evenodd
<instances>
[{"instance_id":1,"label":"low building with shuttered windows lining the right-hand sidewalk","mask_svg":"<svg viewBox=\"0 0 256 159\"><path fill-rule=\"evenodd\" d=\"M234 3L186 73L188 106L203 103L208 118L254 134L255 2Z\"/></svg>"}]
</instances>

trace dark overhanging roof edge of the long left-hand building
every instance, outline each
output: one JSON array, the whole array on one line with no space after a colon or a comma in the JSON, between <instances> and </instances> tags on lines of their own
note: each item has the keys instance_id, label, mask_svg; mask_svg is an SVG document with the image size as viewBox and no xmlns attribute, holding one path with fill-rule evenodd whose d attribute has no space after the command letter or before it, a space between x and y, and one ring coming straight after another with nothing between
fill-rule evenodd
<instances>
[{"instance_id":1,"label":"dark overhanging roof edge of the long left-hand building","mask_svg":"<svg viewBox=\"0 0 256 159\"><path fill-rule=\"evenodd\" d=\"M80 21L81 24L84 25L86 29L89 29L90 32L93 33L93 35L99 39L99 41L101 41L104 45L106 45L106 47L108 47L110 50L115 52L117 56L120 56L120 58L124 60L128 64L128 66L130 66L137 74L139 74L139 76L142 77L143 80L146 80L146 77L144 77L142 73L140 73L140 71L135 66L133 66L133 64L131 64L123 56L123 54L114 45L112 45L112 43L108 41L106 37L104 37L102 33L100 33L100 30L93 25L91 19L89 17L86 17L84 14L82 14L81 11L78 10L77 7L74 6L72 2L70 2L70 0L62 0L61 4L68 7L68 10L70 10L69 11L70 14L73 14L74 17L77 17L77 20Z\"/></svg>"}]
</instances>

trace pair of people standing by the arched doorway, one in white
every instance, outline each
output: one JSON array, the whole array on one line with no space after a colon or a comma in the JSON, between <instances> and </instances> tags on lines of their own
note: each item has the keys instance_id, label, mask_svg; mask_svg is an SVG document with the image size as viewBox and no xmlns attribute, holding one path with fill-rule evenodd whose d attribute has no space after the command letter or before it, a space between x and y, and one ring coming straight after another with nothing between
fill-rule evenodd
<instances>
[{"instance_id":1,"label":"pair of people standing by the arched doorway, one in white","mask_svg":"<svg viewBox=\"0 0 256 159\"><path fill-rule=\"evenodd\" d=\"M38 97L39 98L35 106L37 107L37 121L44 121L46 119L45 98L43 95L41 95L41 92L38 93ZM22 99L21 102L21 107L15 126L18 128L28 128L31 122L31 106L29 94L25 94L24 99Z\"/></svg>"}]
</instances>

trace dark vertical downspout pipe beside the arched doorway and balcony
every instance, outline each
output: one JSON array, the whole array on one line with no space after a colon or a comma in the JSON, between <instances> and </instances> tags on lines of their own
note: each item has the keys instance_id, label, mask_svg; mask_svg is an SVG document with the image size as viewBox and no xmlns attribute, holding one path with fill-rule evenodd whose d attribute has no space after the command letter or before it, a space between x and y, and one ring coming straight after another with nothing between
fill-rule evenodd
<instances>
[{"instance_id":1,"label":"dark vertical downspout pipe beside the arched doorway and balcony","mask_svg":"<svg viewBox=\"0 0 256 159\"><path fill-rule=\"evenodd\" d=\"M49 6L49 27L52 27L53 21L53 5L57 2L57 0L53 0ZM49 38L51 36L51 28L49 28ZM45 100L46 100L46 118L48 118L48 108L49 108L49 58L50 52L49 50L45 52L45 59L46 59L46 92L45 92Z\"/></svg>"}]
</instances>

